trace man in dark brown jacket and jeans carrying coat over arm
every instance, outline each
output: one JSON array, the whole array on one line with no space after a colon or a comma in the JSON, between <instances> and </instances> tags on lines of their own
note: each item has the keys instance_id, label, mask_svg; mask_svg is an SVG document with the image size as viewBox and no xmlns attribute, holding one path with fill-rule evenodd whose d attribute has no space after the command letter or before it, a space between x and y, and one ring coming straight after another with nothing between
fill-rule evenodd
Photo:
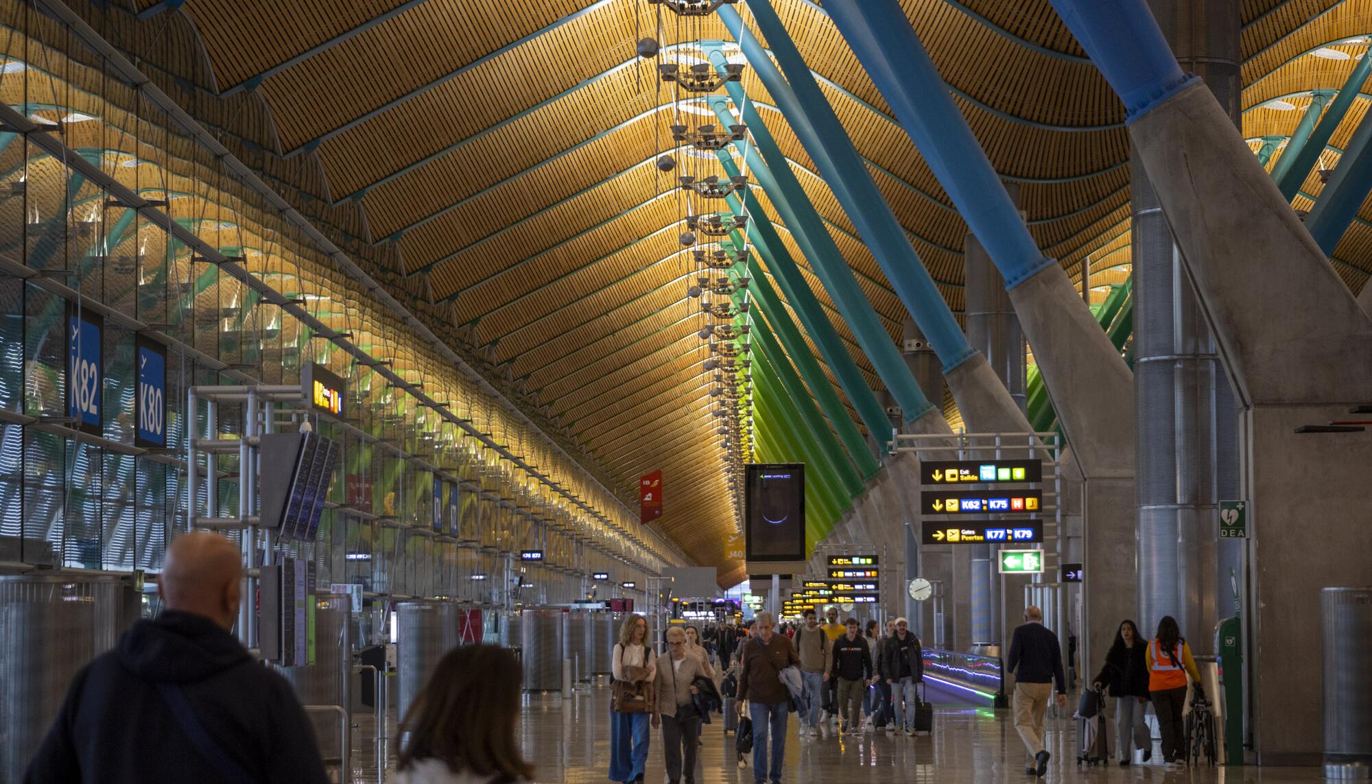
<instances>
[{"instance_id":1,"label":"man in dark brown jacket and jeans carrying coat over arm","mask_svg":"<svg viewBox=\"0 0 1372 784\"><path fill-rule=\"evenodd\" d=\"M738 710L749 705L753 720L753 781L781 784L781 765L786 757L786 713L790 710L790 691L781 680L781 670L800 665L790 637L778 635L777 622L768 611L753 617L756 635L744 646L742 666L738 673ZM767 769L767 740L771 739L771 776Z\"/></svg>"}]
</instances>

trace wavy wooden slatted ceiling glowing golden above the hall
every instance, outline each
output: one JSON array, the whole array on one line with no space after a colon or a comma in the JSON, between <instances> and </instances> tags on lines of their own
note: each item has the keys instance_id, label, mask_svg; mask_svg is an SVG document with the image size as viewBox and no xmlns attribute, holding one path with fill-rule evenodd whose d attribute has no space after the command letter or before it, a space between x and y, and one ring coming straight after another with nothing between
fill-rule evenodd
<instances>
[{"instance_id":1,"label":"wavy wooden slatted ceiling glowing golden above the hall","mask_svg":"<svg viewBox=\"0 0 1372 784\"><path fill-rule=\"evenodd\" d=\"M236 4L237 14L220 8L229 0L191 0L188 8L202 36L213 41L209 51L218 84L230 85L398 1L354 0L329 18L306 18L298 7L276 8L280 0L255 0L251 8L261 15L289 19L298 27L257 45L248 45L254 36L243 26L251 16L241 12L241 4ZM664 425L646 441L616 440L632 430L619 422L616 411L627 408L641 424L652 421L654 410L679 414L698 402L704 358L694 337L698 303L685 299L685 273L691 265L675 243L675 201L672 196L650 200L671 188L652 169L668 119L665 112L639 117L657 103L659 85L650 78L652 63L634 60L630 51L632 4L598 5L486 58L589 5L591 0L499 7L428 0L269 78L262 93L289 149L417 90L324 141L318 155L333 196L369 188L361 207L372 236L381 240L403 230L395 248L405 269L436 265L421 280L438 297L457 295L456 321L472 322L472 341L488 347L525 389L605 450L602 462L613 466L626 487L638 471L663 465L659 450L664 448L671 450L667 463L674 470L707 471L702 476L718 487L693 482L691 503L698 510L676 519L668 511L664 525L683 544L694 543L693 551L709 548L715 546L711 537L718 540L715 532L724 530L731 518L722 503L724 484L712 470L718 450L708 434L696 439L687 429ZM1249 85L1244 106L1342 84L1350 62L1303 64L1312 59L1302 58L1281 66L1316 45L1365 33L1369 5L1361 0L1244 0L1243 45L1251 58L1244 75L1249 81L1265 77ZM777 0L777 7L807 62L823 77L822 89L868 159L868 171L912 234L914 247L934 278L947 282L944 296L960 310L966 225L827 18L808 0ZM1128 170L1122 166L1128 143L1115 127L1122 111L1095 69L1081 62L1080 48L1048 1L904 0L904 7L955 93L966 93L955 100L997 171L1024 180L1024 208L1040 247L1074 275L1091 254L1095 284L1118 280L1129 254ZM746 11L744 16L749 19ZM1312 18L1308 29L1290 34ZM727 38L715 19L704 32L707 38ZM1065 56L1026 48L1015 37ZM606 71L606 78L583 84ZM792 170L888 332L897 336L904 318L899 300L808 155L771 108L771 97L755 74L745 74L744 86L792 159ZM646 77L642 86L641 75ZM451 78L424 88L445 77ZM565 95L556 97L560 93ZM346 96L347 101L321 96ZM991 106L995 111L985 108ZM1364 111L1360 101L1350 114L1361 118ZM1032 127L1004 115L1093 130ZM1298 118L1299 112L1254 110L1244 118L1244 130L1249 136L1257 127L1290 133ZM1345 121L1335 145L1346 141L1356 118ZM1332 164L1336 156L1327 159ZM1318 188L1316 177L1308 178L1308 192ZM761 203L764 215L756 218L777 222L826 317L867 382L879 388L809 262L771 203L766 197ZM1372 226L1360 223L1336 255L1372 258L1368 244ZM1349 267L1340 274L1361 273ZM707 419L708 413L697 413L690 421L704 422L701 432L708 433ZM697 518L713 522L702 528Z\"/></svg>"}]
</instances>

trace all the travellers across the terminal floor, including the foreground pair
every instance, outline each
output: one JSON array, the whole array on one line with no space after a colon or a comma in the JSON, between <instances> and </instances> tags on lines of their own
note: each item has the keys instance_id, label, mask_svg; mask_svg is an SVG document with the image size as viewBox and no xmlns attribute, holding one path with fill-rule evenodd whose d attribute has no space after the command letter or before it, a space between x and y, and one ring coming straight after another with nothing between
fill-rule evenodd
<instances>
[{"instance_id":1,"label":"all the travellers across the terminal floor, including the foreground pair","mask_svg":"<svg viewBox=\"0 0 1372 784\"><path fill-rule=\"evenodd\" d=\"M25 784L143 781L327 781L314 731L291 685L259 666L230 633L241 600L240 552L210 533L177 537L159 577L165 610L134 624L114 650L82 667L25 774ZM923 648L904 618L866 626L829 607L778 625L760 611L746 624L671 625L661 652L643 615L624 618L612 658L609 779L642 784L653 731L661 733L668 783L693 784L702 724L723 714L749 740L755 784L779 784L788 720L800 737L875 732L914 736L932 726L919 692ZM1037 607L1014 630L1014 726L1029 763L1044 776L1051 754L1044 715L1066 706L1067 678L1056 635ZM461 646L442 657L402 718L398 784L534 781L519 740L520 663L494 646ZM1152 739L1154 707L1168 768L1185 763L1183 707L1200 674L1176 620L1163 617L1146 640L1122 621L1091 681L1089 695L1115 699L1120 765ZM472 710L471 706L482 706ZM737 718L735 718L737 717ZM1080 735L1080 733L1078 733ZM155 751L152 751L155 750ZM1080 758L1078 758L1080 759ZM654 773L656 780L659 774Z\"/></svg>"}]
</instances>

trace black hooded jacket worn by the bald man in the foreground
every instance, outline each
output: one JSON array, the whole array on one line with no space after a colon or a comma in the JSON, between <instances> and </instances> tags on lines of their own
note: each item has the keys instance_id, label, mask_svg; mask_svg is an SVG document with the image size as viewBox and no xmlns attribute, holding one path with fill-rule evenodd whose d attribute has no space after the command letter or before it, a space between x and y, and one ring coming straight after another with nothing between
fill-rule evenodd
<instances>
[{"instance_id":1,"label":"black hooded jacket worn by the bald man in the foreground","mask_svg":"<svg viewBox=\"0 0 1372 784\"><path fill-rule=\"evenodd\" d=\"M158 683L180 688L206 733L257 781L327 781L314 729L285 678L214 621L166 611L134 624L77 673L25 783L237 784L192 746Z\"/></svg>"}]
</instances>

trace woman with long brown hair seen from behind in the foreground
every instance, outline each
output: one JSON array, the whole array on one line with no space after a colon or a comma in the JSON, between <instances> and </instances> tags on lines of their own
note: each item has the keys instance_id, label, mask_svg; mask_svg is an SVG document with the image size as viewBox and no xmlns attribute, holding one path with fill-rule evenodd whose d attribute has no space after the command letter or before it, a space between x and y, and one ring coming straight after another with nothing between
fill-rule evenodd
<instances>
[{"instance_id":1,"label":"woman with long brown hair seen from behind in the foreground","mask_svg":"<svg viewBox=\"0 0 1372 784\"><path fill-rule=\"evenodd\" d=\"M462 646L439 659L402 721L398 784L532 781L519 751L520 666L495 646ZM476 710L473 706L480 706ZM403 737L402 733L402 737Z\"/></svg>"}]
</instances>

